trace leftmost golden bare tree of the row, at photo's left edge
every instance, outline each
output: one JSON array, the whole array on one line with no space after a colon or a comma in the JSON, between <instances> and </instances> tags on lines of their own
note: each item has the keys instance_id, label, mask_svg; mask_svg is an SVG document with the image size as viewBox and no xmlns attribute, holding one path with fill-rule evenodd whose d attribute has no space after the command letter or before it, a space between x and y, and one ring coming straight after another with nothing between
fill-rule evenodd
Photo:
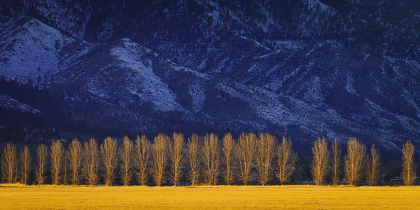
<instances>
[{"instance_id":1,"label":"leftmost golden bare tree of the row, at photo's left edge","mask_svg":"<svg viewBox=\"0 0 420 210\"><path fill-rule=\"evenodd\" d=\"M14 144L6 144L3 149L3 169L7 183L16 183L18 181L18 154Z\"/></svg>"}]
</instances>

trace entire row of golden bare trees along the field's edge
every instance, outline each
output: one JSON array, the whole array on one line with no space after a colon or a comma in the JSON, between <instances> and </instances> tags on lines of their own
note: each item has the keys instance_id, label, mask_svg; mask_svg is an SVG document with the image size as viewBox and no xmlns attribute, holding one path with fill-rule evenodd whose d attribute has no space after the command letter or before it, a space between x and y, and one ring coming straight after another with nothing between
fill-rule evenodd
<instances>
[{"instance_id":1,"label":"entire row of golden bare trees along the field's edge","mask_svg":"<svg viewBox=\"0 0 420 210\"><path fill-rule=\"evenodd\" d=\"M369 186L377 186L380 180L381 158L372 144L370 152L356 138L346 144L347 153L342 156L338 141L328 145L325 138L314 141L312 147L311 176L321 186L330 179L337 186L342 178L357 186L365 180ZM401 176L406 186L416 179L415 149L411 141L402 146ZM225 134L200 137L193 134L186 139L181 133L172 137L158 134L154 141L145 135L133 142L123 138L120 146L116 139L106 138L102 144L95 139L80 142L73 139L65 148L62 141L53 141L48 147L40 144L36 149L34 165L28 146L18 153L14 144L8 143L1 155L1 181L3 183L28 184L34 172L34 183L45 184L48 174L54 185L116 184L123 186L135 180L146 186L153 180L155 186L179 185L186 179L191 186L200 184L232 185L239 179L244 185L258 181L262 186L272 179L281 185L290 183L297 163L297 153L290 139L278 141L272 134L242 133L238 139Z\"/></svg>"}]
</instances>

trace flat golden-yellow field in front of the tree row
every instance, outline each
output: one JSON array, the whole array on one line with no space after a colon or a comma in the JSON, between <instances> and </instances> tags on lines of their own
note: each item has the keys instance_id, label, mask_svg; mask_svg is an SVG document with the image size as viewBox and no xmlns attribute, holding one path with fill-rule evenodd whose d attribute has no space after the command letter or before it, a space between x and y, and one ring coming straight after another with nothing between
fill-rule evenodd
<instances>
[{"instance_id":1,"label":"flat golden-yellow field in front of the tree row","mask_svg":"<svg viewBox=\"0 0 420 210\"><path fill-rule=\"evenodd\" d=\"M420 187L0 186L0 209L420 209Z\"/></svg>"}]
</instances>

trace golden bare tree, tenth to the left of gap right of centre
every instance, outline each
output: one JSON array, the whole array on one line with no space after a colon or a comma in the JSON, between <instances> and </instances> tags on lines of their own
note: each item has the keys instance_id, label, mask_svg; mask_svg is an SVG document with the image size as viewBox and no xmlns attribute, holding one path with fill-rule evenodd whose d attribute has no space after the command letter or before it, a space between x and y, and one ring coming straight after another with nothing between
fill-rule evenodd
<instances>
[{"instance_id":1,"label":"golden bare tree, tenth to the left of gap right of centre","mask_svg":"<svg viewBox=\"0 0 420 210\"><path fill-rule=\"evenodd\" d=\"M130 186L133 177L133 144L127 136L123 139L123 146L120 146L120 174L123 179L124 186Z\"/></svg>"}]
</instances>

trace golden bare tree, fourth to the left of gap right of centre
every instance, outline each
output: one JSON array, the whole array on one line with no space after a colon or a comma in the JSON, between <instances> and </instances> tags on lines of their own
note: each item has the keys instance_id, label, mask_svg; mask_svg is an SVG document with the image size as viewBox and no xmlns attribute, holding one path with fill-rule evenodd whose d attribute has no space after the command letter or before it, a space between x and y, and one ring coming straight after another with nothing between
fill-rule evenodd
<instances>
[{"instance_id":1,"label":"golden bare tree, fourth to the left of gap right of centre","mask_svg":"<svg viewBox=\"0 0 420 210\"><path fill-rule=\"evenodd\" d=\"M223 152L223 165L225 166L225 182L230 186L233 182L233 169L235 168L235 148L236 142L232 138L232 134L228 133L225 134L223 137L223 145L222 145L222 152Z\"/></svg>"}]
</instances>

